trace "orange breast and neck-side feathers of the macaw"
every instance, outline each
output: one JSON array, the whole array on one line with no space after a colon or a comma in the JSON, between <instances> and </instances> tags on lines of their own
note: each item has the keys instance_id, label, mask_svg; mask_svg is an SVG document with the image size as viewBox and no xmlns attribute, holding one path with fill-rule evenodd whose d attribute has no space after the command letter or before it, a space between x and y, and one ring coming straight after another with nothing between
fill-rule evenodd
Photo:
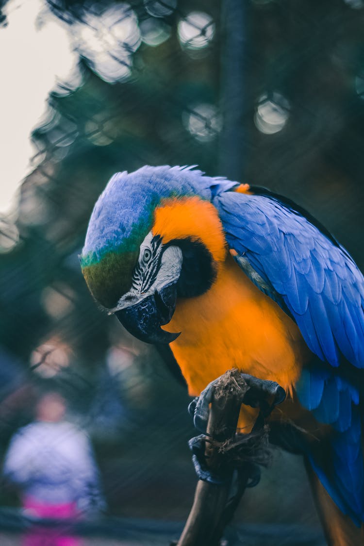
<instances>
[{"instance_id":1,"label":"orange breast and neck-side feathers of the macaw","mask_svg":"<svg viewBox=\"0 0 364 546\"><path fill-rule=\"evenodd\" d=\"M299 328L226 252L222 225L213 205L191 199L194 214L187 222L184 215L188 199L174 203L173 215L171 210L160 209L153 228L154 233L169 240L187 236L202 240L216 260L217 276L211 288L195 298L178 299L174 316L163 327L171 332L181 331L171 349L186 378L189 394L198 396L208 383L232 367L260 379L277 381L292 393L308 357ZM201 224L203 214L207 218L203 217ZM178 227L171 229L175 223ZM168 234L162 230L167 225ZM170 232L175 235L170 236Z\"/></svg>"}]
</instances>

